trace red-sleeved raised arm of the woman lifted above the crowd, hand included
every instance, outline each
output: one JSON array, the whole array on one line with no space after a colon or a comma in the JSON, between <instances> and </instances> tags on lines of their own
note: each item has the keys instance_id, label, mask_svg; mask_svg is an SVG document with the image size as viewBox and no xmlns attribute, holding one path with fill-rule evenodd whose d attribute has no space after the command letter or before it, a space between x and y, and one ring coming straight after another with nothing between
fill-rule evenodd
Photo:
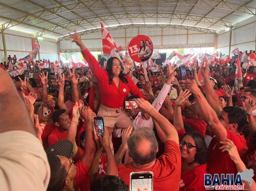
<instances>
[{"instance_id":1,"label":"red-sleeved raised arm of the woman lifted above the crowd, hand included","mask_svg":"<svg viewBox=\"0 0 256 191\"><path fill-rule=\"evenodd\" d=\"M82 40L79 38L78 34L70 34L72 36L72 42L76 42L76 44L81 48L82 55L84 59L88 62L89 68L92 70L93 75L98 79L101 80L105 71L100 67L99 62L96 58L87 50L84 46Z\"/></svg>"}]
</instances>

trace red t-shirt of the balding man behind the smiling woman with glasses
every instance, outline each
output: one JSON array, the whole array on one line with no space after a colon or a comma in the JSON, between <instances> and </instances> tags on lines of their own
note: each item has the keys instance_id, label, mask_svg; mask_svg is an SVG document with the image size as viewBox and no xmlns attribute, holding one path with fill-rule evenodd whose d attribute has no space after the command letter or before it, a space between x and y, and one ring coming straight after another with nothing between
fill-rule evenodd
<instances>
[{"instance_id":1,"label":"red t-shirt of the balding man behind the smiling woman with glasses","mask_svg":"<svg viewBox=\"0 0 256 191\"><path fill-rule=\"evenodd\" d=\"M203 120L189 119L182 116L183 123L188 124L194 131L205 137L207 124Z\"/></svg>"}]
</instances>

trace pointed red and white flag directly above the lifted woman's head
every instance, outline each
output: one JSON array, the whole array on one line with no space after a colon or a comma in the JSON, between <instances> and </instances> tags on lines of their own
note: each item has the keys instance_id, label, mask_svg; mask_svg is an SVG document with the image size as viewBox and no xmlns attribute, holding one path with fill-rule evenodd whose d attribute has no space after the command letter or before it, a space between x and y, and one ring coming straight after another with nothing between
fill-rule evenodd
<instances>
[{"instance_id":1,"label":"pointed red and white flag directly above the lifted woman's head","mask_svg":"<svg viewBox=\"0 0 256 191\"><path fill-rule=\"evenodd\" d=\"M102 35L102 49L103 55L108 56L111 54L113 49L118 49L116 43L114 42L112 36L108 32L108 30L100 23L101 25L101 35ZM105 55L106 54L106 55Z\"/></svg>"}]
</instances>

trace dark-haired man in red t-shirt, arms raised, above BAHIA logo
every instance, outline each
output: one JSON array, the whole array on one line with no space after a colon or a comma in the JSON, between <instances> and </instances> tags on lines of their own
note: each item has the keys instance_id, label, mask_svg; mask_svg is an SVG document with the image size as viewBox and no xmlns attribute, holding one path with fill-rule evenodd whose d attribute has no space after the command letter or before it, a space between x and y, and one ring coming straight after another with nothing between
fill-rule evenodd
<instances>
[{"instance_id":1,"label":"dark-haired man in red t-shirt, arms raised, above BAHIA logo","mask_svg":"<svg viewBox=\"0 0 256 191\"><path fill-rule=\"evenodd\" d=\"M208 66L208 65L207 65ZM209 145L210 157L207 160L206 171L211 174L236 174L236 165L227 152L222 152L219 148L222 146L220 141L226 141L226 138L232 140L240 157L243 159L247 151L244 135L240 134L246 123L246 113L237 107L221 108L219 98L214 93L209 79L209 67L202 71L204 77L206 99L194 80L181 81L181 87L186 87L196 96L200 113L204 121L211 126L215 137L212 138ZM209 105L210 104L210 105Z\"/></svg>"}]
</instances>

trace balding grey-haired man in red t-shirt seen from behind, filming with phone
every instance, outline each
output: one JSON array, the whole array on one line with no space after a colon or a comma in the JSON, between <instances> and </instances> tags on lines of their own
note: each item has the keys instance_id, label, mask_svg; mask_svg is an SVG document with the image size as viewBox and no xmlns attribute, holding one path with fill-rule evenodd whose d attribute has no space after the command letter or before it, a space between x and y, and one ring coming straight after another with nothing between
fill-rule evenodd
<instances>
[{"instance_id":1,"label":"balding grey-haired man in red t-shirt seen from behind, filming with phone","mask_svg":"<svg viewBox=\"0 0 256 191\"><path fill-rule=\"evenodd\" d=\"M166 136L165 150L164 154L156 159L158 143L154 131L146 127L136 129L127 140L133 162L127 165L118 164L118 175L130 185L131 172L152 171L154 191L179 190L181 156L178 133L148 101L143 99L135 99L135 101L140 109L148 113L163 130ZM133 187L130 189L133 190Z\"/></svg>"}]
</instances>

